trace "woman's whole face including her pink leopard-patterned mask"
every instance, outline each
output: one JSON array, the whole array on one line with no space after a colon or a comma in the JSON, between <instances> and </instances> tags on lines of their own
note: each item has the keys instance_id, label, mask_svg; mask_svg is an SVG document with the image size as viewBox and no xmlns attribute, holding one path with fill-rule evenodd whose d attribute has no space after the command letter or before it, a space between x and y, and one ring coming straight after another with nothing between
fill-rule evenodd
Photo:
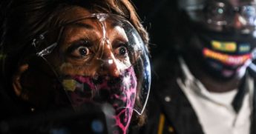
<instances>
[{"instance_id":1,"label":"woman's whole face including her pink leopard-patterned mask","mask_svg":"<svg viewBox=\"0 0 256 134\"><path fill-rule=\"evenodd\" d=\"M75 20L65 24L57 47L46 59L60 76L73 107L108 103L114 107L115 126L126 132L137 96L137 76L129 56L128 33L122 21L77 7ZM73 17L73 16L72 16ZM131 38L131 36L129 36ZM131 46L130 46L131 47ZM132 56L131 56L132 57Z\"/></svg>"}]
</instances>

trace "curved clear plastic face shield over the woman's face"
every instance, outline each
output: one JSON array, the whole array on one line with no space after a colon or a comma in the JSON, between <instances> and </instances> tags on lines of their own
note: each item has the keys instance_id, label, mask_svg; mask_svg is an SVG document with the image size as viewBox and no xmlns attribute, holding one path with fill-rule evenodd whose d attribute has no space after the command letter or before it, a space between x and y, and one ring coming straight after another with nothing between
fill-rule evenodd
<instances>
[{"instance_id":1,"label":"curved clear plastic face shield over the woman's face","mask_svg":"<svg viewBox=\"0 0 256 134\"><path fill-rule=\"evenodd\" d=\"M139 115L151 84L148 51L137 30L121 16L96 13L63 24L57 39L48 30L33 40L74 109L108 103ZM56 33L55 33L56 34Z\"/></svg>"}]
</instances>

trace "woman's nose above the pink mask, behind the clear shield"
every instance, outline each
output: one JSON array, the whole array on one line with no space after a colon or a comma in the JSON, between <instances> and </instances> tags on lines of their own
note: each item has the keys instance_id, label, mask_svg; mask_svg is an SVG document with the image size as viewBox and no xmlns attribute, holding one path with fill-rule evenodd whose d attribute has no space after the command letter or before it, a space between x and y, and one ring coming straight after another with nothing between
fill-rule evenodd
<instances>
[{"instance_id":1,"label":"woman's nose above the pink mask, behind the clear shield","mask_svg":"<svg viewBox=\"0 0 256 134\"><path fill-rule=\"evenodd\" d=\"M99 57L101 61L99 73L101 75L108 75L108 76L119 76L119 65L116 61L114 53L111 50L110 44L103 44L102 56Z\"/></svg>"}]
</instances>

